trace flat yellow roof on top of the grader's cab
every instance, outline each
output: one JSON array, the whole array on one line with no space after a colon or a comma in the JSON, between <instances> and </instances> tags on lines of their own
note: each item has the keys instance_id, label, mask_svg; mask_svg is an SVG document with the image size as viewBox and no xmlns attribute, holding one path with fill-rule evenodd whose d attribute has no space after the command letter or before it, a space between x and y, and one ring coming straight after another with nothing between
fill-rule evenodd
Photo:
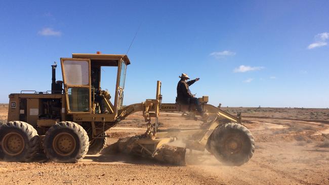
<instances>
[{"instance_id":1,"label":"flat yellow roof on top of the grader's cab","mask_svg":"<svg viewBox=\"0 0 329 185\"><path fill-rule=\"evenodd\" d=\"M113 54L77 54L73 53L72 58L83 58L90 59L91 61L98 61L103 63L112 64L113 61L118 61L120 59L124 59L126 65L130 64L130 60L127 55L113 55Z\"/></svg>"}]
</instances>

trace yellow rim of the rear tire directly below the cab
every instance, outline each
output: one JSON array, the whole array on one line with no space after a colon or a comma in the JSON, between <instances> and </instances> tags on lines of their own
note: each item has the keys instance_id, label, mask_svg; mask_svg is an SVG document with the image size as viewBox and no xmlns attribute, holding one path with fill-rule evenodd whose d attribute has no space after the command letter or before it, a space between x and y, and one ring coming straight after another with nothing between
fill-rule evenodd
<instances>
[{"instance_id":1,"label":"yellow rim of the rear tire directly below the cab","mask_svg":"<svg viewBox=\"0 0 329 185\"><path fill-rule=\"evenodd\" d=\"M58 155L68 156L75 150L76 142L73 135L62 132L55 136L53 148Z\"/></svg>"}]
</instances>

